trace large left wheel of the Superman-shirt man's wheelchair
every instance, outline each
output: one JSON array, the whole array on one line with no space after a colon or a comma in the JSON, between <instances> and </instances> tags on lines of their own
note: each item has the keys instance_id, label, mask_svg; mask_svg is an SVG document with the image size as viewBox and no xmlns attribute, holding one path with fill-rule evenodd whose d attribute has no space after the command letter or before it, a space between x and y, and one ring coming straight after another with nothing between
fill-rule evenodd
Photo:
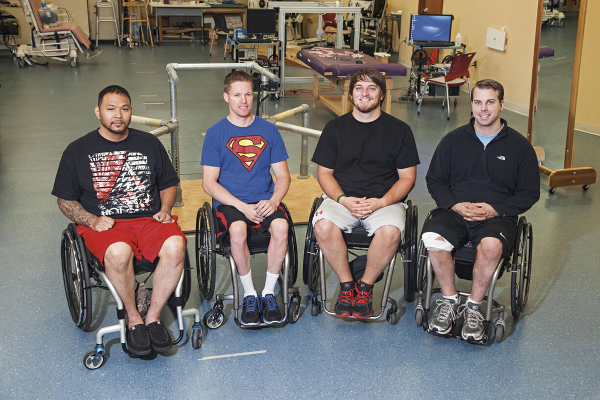
<instances>
[{"instance_id":1,"label":"large left wheel of the Superman-shirt man's wheelchair","mask_svg":"<svg viewBox=\"0 0 600 400\"><path fill-rule=\"evenodd\" d=\"M217 270L217 260L215 259L217 227L215 225L216 222L212 218L212 207L205 202L202 207L198 208L196 214L196 274L198 287L206 300L211 300L215 290Z\"/></svg>"}]
</instances>

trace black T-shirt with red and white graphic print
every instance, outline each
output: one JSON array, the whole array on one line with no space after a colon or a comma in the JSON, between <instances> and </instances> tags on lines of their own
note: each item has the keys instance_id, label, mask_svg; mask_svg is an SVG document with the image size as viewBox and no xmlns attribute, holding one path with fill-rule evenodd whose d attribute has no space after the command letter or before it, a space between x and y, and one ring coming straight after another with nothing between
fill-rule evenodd
<instances>
[{"instance_id":1,"label":"black T-shirt with red and white graphic print","mask_svg":"<svg viewBox=\"0 0 600 400\"><path fill-rule=\"evenodd\" d=\"M149 217L160 211L160 191L179 178L167 151L151 133L129 129L120 142L94 130L67 146L52 194L79 201L95 216Z\"/></svg>"}]
</instances>

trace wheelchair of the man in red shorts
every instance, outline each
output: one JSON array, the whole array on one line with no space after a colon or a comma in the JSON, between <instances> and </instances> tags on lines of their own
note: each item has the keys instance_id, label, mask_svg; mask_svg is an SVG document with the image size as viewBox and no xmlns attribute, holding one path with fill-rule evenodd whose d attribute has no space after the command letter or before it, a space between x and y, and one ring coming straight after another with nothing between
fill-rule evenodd
<instances>
[{"instance_id":1,"label":"wheelchair of the man in red shorts","mask_svg":"<svg viewBox=\"0 0 600 400\"><path fill-rule=\"evenodd\" d=\"M126 345L127 327L125 326L125 309L121 297L119 297L115 286L113 286L104 273L104 267L100 264L100 261L89 252L83 237L77 234L77 225L75 223L70 223L67 229L62 231L61 262L62 279L65 286L65 294L67 295L68 308L71 318L77 327L83 329L85 332L89 332L92 322L92 288L108 289L117 304L116 314L118 324L98 329L96 333L96 347L94 350L85 353L85 356L83 356L83 365L88 369L97 369L104 365L108 357L104 349L103 337L107 333L119 332L123 351L130 356L134 356L127 349ZM133 264L136 276L152 273L158 264L158 258L154 262L146 259L137 261L134 258ZM172 344L178 344L183 338L183 317L193 315L194 325L192 327L191 344L193 348L197 349L202 345L200 312L195 308L182 309L190 297L190 270L190 258L186 250L184 270L167 304L175 308L179 327L179 337Z\"/></svg>"}]
</instances>

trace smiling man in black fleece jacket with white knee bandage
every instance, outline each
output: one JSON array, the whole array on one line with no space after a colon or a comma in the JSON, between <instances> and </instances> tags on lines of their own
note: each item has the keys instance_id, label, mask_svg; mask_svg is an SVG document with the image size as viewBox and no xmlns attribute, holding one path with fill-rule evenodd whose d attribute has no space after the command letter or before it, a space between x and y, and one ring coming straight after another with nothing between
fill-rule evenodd
<instances>
[{"instance_id":1,"label":"smiling man in black fleece jacket with white knee bandage","mask_svg":"<svg viewBox=\"0 0 600 400\"><path fill-rule=\"evenodd\" d=\"M473 118L440 141L427 171L427 189L438 208L425 221L422 240L442 288L430 323L440 335L450 332L462 314L463 339L482 338L481 303L494 270L514 242L518 214L539 199L535 151L500 118L503 97L495 80L477 82L471 94ZM459 307L451 250L469 240L477 249L472 291Z\"/></svg>"}]
</instances>

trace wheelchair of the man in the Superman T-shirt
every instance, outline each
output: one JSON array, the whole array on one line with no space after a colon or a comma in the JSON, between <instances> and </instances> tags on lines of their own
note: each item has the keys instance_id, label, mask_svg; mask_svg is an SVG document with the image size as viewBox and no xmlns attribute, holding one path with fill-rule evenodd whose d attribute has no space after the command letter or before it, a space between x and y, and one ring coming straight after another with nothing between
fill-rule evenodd
<instances>
[{"instance_id":1,"label":"wheelchair of the man in the Superman T-shirt","mask_svg":"<svg viewBox=\"0 0 600 400\"><path fill-rule=\"evenodd\" d=\"M212 300L215 289L215 274L217 270L216 255L224 256L229 260L233 294L217 294L215 305L204 315L204 324L208 329L217 329L226 320L223 313L223 302L233 300L233 311L235 323L242 329L260 329L262 327L283 326L296 323L300 317L300 291L294 286L298 276L298 249L296 247L296 235L289 210L283 202L280 203L289 222L287 236L287 252L281 270L279 283L283 295L283 320L277 324L260 323L253 326L242 325L239 320L239 284L238 268L236 267L231 250L229 248L229 235L223 231L223 226L217 222L217 211L208 202L198 208L196 214L196 272L200 292L206 300ZM261 235L248 236L248 249L250 255L266 253L271 234L265 232ZM292 294L291 298L289 295Z\"/></svg>"}]
</instances>

